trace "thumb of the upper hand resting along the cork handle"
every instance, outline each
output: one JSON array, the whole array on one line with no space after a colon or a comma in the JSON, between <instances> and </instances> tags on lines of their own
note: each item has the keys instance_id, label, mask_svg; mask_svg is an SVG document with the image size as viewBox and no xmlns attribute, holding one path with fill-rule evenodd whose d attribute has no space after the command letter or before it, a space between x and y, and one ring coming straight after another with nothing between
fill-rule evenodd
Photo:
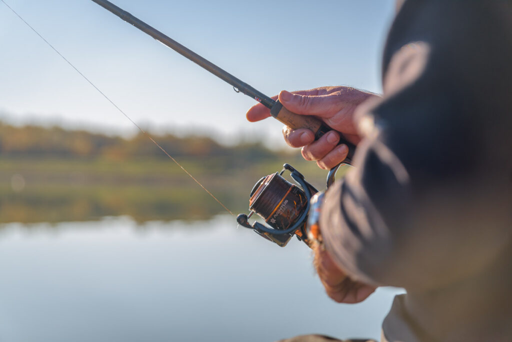
<instances>
[{"instance_id":1,"label":"thumb of the upper hand resting along the cork handle","mask_svg":"<svg viewBox=\"0 0 512 342\"><path fill-rule=\"evenodd\" d=\"M339 98L335 95L302 95L283 90L279 101L287 110L302 115L329 118L339 110Z\"/></svg>"}]
</instances>

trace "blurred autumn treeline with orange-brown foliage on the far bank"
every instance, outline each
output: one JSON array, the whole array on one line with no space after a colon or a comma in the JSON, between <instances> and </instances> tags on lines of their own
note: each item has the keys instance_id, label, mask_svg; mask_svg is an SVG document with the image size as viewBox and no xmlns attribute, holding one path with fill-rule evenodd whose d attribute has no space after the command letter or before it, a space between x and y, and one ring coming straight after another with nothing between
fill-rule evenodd
<instances>
[{"instance_id":1,"label":"blurred autumn treeline with orange-brown foliage on the far bank","mask_svg":"<svg viewBox=\"0 0 512 342\"><path fill-rule=\"evenodd\" d=\"M152 137L173 157L229 157L247 159L274 159L277 154L261 143L243 143L224 146L205 136L177 137L165 134ZM0 122L0 156L2 157L58 157L107 158L127 160L134 157L167 158L147 136L140 133L133 138L66 130L62 127L37 125L13 126Z\"/></svg>"}]
</instances>

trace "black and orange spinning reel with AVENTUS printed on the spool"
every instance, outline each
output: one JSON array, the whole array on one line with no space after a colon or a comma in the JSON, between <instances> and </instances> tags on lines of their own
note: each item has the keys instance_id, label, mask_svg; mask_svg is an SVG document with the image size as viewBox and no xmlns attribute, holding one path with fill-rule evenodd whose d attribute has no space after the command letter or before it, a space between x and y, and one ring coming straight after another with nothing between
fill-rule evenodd
<instances>
[{"instance_id":1,"label":"black and orange spinning reel with AVENTUS printed on the spool","mask_svg":"<svg viewBox=\"0 0 512 342\"><path fill-rule=\"evenodd\" d=\"M339 165L341 163L329 171L327 188L334 183ZM286 170L300 187L283 178ZM300 172L290 164L284 164L281 172L262 177L254 185L249 195L250 213L248 216L239 214L237 222L281 247L286 246L294 235L311 247L312 241L306 233L306 221L311 197L317 193L318 190ZM249 218L253 213L257 213L270 227L256 221L251 225Z\"/></svg>"}]
</instances>

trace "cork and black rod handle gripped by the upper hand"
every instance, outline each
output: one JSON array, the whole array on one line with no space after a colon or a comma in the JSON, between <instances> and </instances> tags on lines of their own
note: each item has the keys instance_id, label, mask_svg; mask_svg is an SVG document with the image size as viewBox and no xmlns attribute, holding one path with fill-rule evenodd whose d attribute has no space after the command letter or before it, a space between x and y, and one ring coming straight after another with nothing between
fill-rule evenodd
<instances>
[{"instance_id":1,"label":"cork and black rod handle gripped by the upper hand","mask_svg":"<svg viewBox=\"0 0 512 342\"><path fill-rule=\"evenodd\" d=\"M315 134L315 140L320 139L324 134L332 131L331 127L318 120L315 117L309 115L299 115L287 110L279 100L275 101L275 104L270 109L270 115L293 130L297 129L308 129ZM339 132L338 132L339 133ZM352 159L354 158L355 145L349 142L343 135L340 134L339 143L345 144L349 148L347 158L343 161L344 164L352 165Z\"/></svg>"}]
</instances>

